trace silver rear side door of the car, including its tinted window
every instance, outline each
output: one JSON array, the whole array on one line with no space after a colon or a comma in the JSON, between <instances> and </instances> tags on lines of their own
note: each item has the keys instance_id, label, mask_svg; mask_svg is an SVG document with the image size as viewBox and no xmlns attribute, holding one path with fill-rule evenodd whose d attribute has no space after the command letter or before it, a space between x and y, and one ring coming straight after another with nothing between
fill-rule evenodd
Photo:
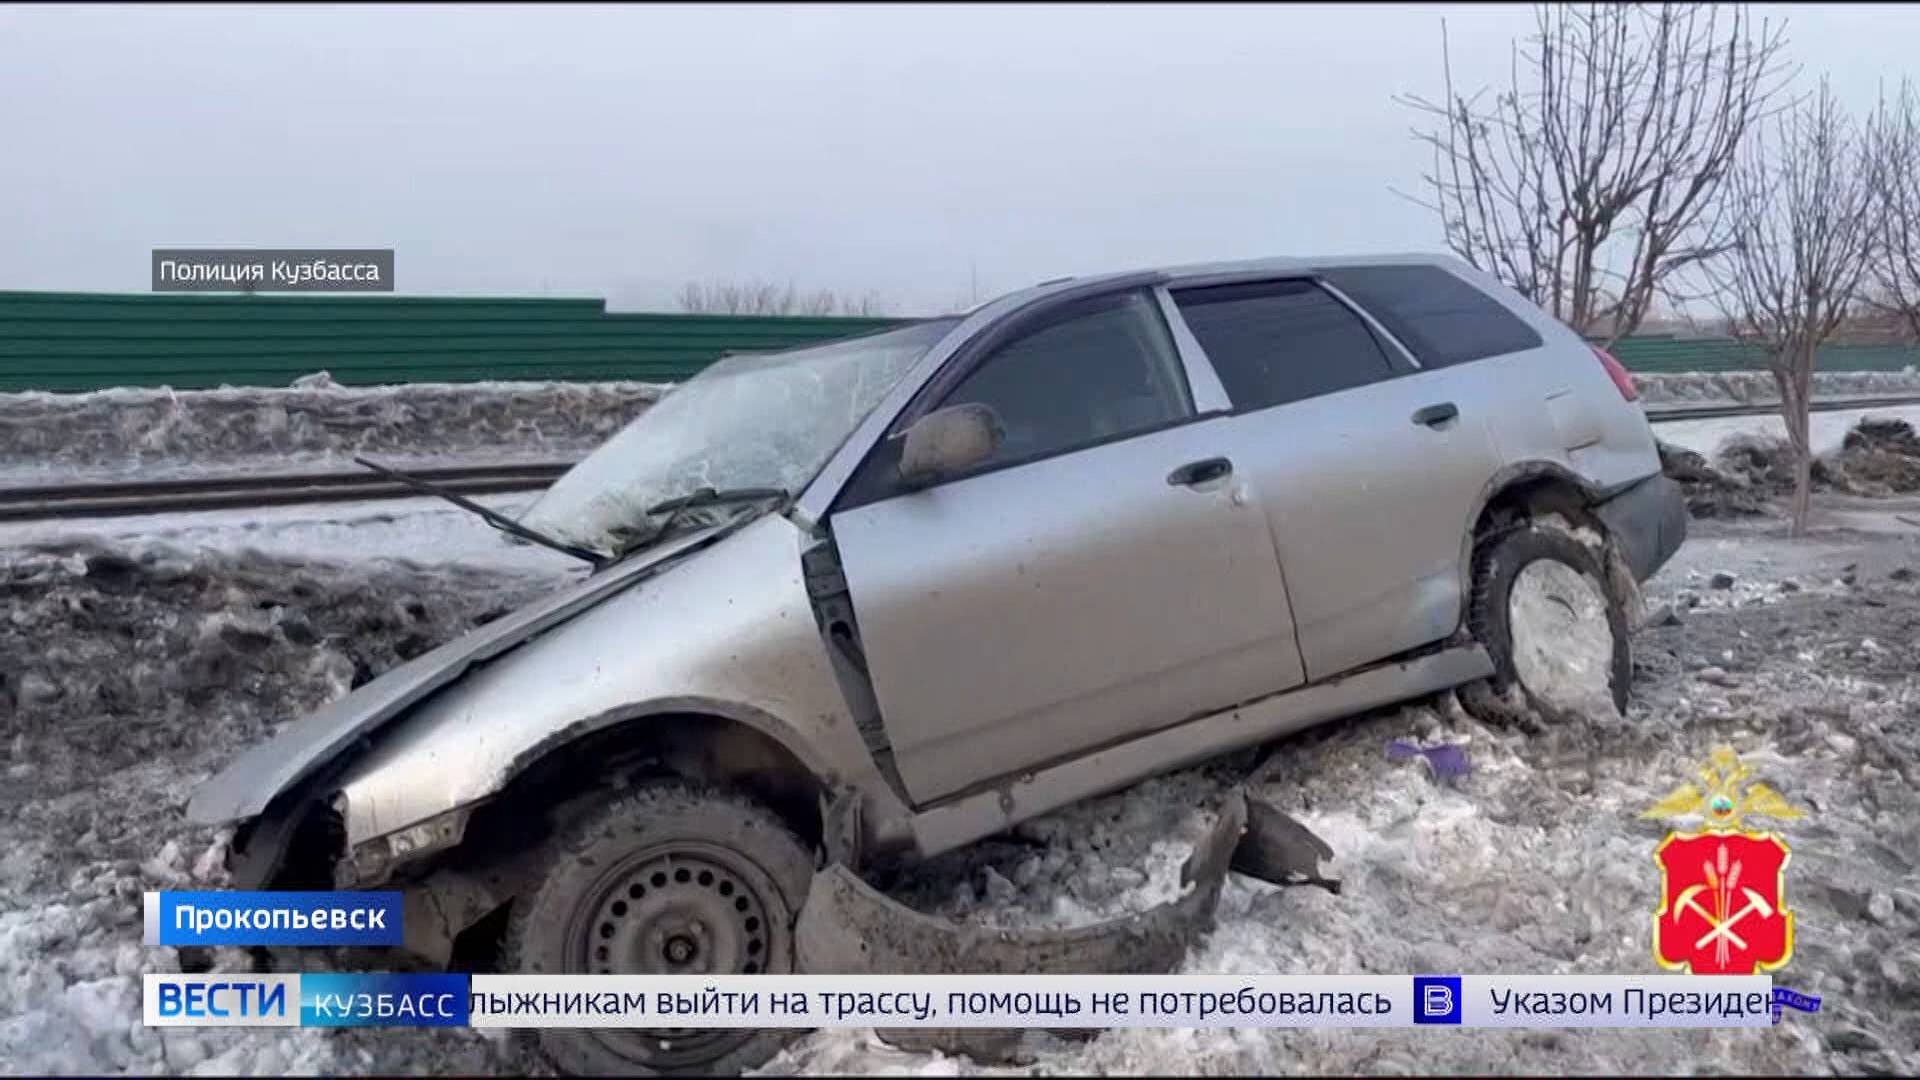
<instances>
[{"instance_id":1,"label":"silver rear side door of the car, including its tinted window","mask_svg":"<svg viewBox=\"0 0 1920 1080\"><path fill-rule=\"evenodd\" d=\"M1231 446L1286 573L1308 678L1438 642L1498 469L1457 373L1425 371L1313 279L1175 288L1235 409Z\"/></svg>"}]
</instances>

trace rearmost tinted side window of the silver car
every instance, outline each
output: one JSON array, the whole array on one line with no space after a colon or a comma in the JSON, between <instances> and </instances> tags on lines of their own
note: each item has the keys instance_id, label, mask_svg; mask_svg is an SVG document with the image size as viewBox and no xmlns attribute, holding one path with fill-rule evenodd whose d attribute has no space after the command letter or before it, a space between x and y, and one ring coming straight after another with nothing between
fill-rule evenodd
<instances>
[{"instance_id":1,"label":"rearmost tinted side window of the silver car","mask_svg":"<svg viewBox=\"0 0 1920 1080\"><path fill-rule=\"evenodd\" d=\"M1338 267L1321 277L1405 344L1421 367L1540 348L1540 334L1440 267Z\"/></svg>"}]
</instances>

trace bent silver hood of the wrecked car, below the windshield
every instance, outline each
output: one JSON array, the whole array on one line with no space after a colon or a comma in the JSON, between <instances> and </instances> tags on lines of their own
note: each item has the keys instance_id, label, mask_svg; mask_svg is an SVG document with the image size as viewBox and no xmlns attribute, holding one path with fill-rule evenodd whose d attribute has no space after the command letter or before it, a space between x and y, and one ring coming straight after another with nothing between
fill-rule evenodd
<instances>
[{"instance_id":1,"label":"bent silver hood of the wrecked car, below the windshield","mask_svg":"<svg viewBox=\"0 0 1920 1080\"><path fill-rule=\"evenodd\" d=\"M708 548L753 517L758 515L743 513L630 555L586 580L390 669L236 757L194 792L186 815L196 822L217 824L261 813L276 796L338 757L355 740L399 717L407 707L453 682L472 665L493 659L536 634L574 619L634 582L660 573L676 557Z\"/></svg>"}]
</instances>

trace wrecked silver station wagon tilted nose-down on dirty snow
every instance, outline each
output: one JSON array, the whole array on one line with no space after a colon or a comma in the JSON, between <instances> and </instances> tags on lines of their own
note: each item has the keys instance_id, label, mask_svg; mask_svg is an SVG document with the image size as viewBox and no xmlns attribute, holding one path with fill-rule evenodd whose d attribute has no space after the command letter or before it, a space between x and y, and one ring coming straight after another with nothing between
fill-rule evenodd
<instances>
[{"instance_id":1,"label":"wrecked silver station wagon tilted nose-down on dirty snow","mask_svg":"<svg viewBox=\"0 0 1920 1080\"><path fill-rule=\"evenodd\" d=\"M726 357L497 523L591 571L190 815L240 822L240 888L403 888L434 963L732 974L818 967L808 896L887 903L862 869L1309 724L1450 688L1501 723L1622 709L1686 511L1613 357L1392 256ZM785 1036L540 1034L576 1072Z\"/></svg>"}]
</instances>

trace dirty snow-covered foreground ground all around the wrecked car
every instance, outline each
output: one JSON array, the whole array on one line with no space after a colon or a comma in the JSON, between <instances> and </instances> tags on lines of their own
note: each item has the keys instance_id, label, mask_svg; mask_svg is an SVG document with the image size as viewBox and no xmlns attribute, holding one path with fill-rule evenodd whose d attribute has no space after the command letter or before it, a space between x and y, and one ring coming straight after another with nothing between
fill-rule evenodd
<instances>
[{"instance_id":1,"label":"dirty snow-covered foreground ground all around the wrecked car","mask_svg":"<svg viewBox=\"0 0 1920 1080\"><path fill-rule=\"evenodd\" d=\"M1081 924L1169 896L1248 769L1338 851L1340 896L1229 882L1196 972L1651 972L1659 828L1634 815L1730 742L1811 817L1788 826L1799 913L1784 986L1814 1017L1759 1032L1117 1030L1029 1036L1014 1068L906 1053L866 1030L801 1038L766 1074L1912 1072L1920 1068L1920 532L1695 523L1649 584L1624 719L1538 736L1450 698L1327 724L1092 799L897 888L996 924ZM1718 578L1732 580L1716 588ZM21 552L0 569L0 1061L19 1072L516 1072L478 1032L150 1030L140 892L219 884L225 836L184 824L240 746L551 578L457 565L286 563L150 548ZM1788 584L1793 590L1788 590ZM1695 598L1686 603L1686 598ZM1461 746L1436 784L1390 740ZM1044 842L1035 846L1033 842ZM248 957L223 949L217 970ZM303 953L309 970L351 963Z\"/></svg>"}]
</instances>

